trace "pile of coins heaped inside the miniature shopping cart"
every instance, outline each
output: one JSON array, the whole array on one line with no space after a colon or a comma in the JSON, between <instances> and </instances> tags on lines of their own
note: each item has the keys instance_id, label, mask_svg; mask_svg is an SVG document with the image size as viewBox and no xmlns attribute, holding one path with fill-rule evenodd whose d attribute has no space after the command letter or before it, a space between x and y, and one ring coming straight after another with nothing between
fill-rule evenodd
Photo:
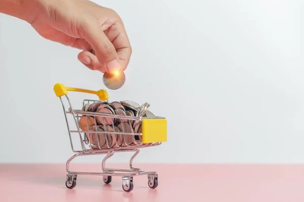
<instances>
[{"instance_id":1,"label":"pile of coins heaped inside the miniature shopping cart","mask_svg":"<svg viewBox=\"0 0 304 202\"><path fill-rule=\"evenodd\" d=\"M95 112L94 116L82 116L79 119L79 127L83 131L100 131L104 133L89 133L92 148L118 148L141 143L141 135L117 134L123 133L141 133L141 121L130 120L128 117L155 117L149 109L150 105L139 104L124 100L121 102L96 102L86 104L82 111ZM98 115L98 113L109 115L120 115L126 118L114 118ZM113 133L106 133L113 132ZM88 134L86 134L88 136ZM89 139L89 137L88 137Z\"/></svg>"}]
</instances>

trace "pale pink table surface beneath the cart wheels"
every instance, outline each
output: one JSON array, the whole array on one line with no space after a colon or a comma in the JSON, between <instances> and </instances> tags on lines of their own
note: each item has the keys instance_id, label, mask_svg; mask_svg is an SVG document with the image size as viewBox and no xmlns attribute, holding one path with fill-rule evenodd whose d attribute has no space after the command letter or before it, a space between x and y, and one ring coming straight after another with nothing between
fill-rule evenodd
<instances>
[{"instance_id":1,"label":"pale pink table surface beneath the cart wheels","mask_svg":"<svg viewBox=\"0 0 304 202\"><path fill-rule=\"evenodd\" d=\"M126 165L107 167L127 168ZM79 175L73 189L65 187L65 165L0 164L0 201L304 201L302 165L153 165L159 186L134 177L134 189L122 189L122 178L104 184L102 176ZM97 171L100 164L77 164L71 170Z\"/></svg>"}]
</instances>

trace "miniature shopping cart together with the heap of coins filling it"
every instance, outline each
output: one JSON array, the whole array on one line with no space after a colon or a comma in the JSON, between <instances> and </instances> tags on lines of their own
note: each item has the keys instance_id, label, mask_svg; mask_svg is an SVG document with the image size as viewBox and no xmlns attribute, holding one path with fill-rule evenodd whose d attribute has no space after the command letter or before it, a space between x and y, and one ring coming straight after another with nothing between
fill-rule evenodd
<instances>
[{"instance_id":1,"label":"miniature shopping cart together with the heap of coins filling it","mask_svg":"<svg viewBox=\"0 0 304 202\"><path fill-rule=\"evenodd\" d=\"M76 186L78 175L103 176L104 183L111 182L112 176L122 177L122 187L129 192L133 189L133 177L147 175L148 186L158 186L158 174L154 171L141 171L132 163L140 148L158 146L167 141L167 120L156 117L148 111L149 104L132 105L130 102L108 102L105 90L93 91L65 87L57 83L54 86L60 98L66 120L71 149L74 153L66 162L66 187ZM82 110L74 110L67 96L68 91L96 94L99 100L84 99ZM65 108L64 99L69 106ZM68 118L71 118L75 129L72 130ZM76 138L77 140L74 140ZM75 146L75 141L79 149ZM134 152L130 159L130 169L105 168L105 162L115 153ZM69 170L70 162L80 156L106 155L102 160L102 172L75 172Z\"/></svg>"}]
</instances>

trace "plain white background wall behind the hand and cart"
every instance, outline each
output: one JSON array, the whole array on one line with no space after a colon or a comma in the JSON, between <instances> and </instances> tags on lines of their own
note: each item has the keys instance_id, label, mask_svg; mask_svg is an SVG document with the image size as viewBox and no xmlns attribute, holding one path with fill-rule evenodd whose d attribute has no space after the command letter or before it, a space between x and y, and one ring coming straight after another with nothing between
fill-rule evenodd
<instances>
[{"instance_id":1,"label":"plain white background wall behind the hand and cart","mask_svg":"<svg viewBox=\"0 0 304 202\"><path fill-rule=\"evenodd\" d=\"M110 100L148 102L168 120L168 142L135 162L304 163L301 0L99 4L119 13L133 47L126 83L108 90ZM73 154L53 86L105 88L79 52L0 15L0 162L63 163ZM70 98L80 106L95 96Z\"/></svg>"}]
</instances>

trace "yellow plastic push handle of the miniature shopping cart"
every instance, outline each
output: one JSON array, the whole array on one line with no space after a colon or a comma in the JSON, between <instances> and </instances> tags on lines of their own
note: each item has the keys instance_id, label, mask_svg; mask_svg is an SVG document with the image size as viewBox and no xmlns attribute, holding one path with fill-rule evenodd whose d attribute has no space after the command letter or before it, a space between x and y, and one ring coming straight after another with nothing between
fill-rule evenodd
<instances>
[{"instance_id":1,"label":"yellow plastic push handle of the miniature shopping cart","mask_svg":"<svg viewBox=\"0 0 304 202\"><path fill-rule=\"evenodd\" d=\"M67 91L76 91L76 92L86 92L91 94L96 94L99 97L99 100L107 100L109 99L109 95L106 90L86 90L81 88L72 88L72 87L65 87L62 83L56 83L54 85L54 92L57 97L61 97L67 94Z\"/></svg>"}]
</instances>

